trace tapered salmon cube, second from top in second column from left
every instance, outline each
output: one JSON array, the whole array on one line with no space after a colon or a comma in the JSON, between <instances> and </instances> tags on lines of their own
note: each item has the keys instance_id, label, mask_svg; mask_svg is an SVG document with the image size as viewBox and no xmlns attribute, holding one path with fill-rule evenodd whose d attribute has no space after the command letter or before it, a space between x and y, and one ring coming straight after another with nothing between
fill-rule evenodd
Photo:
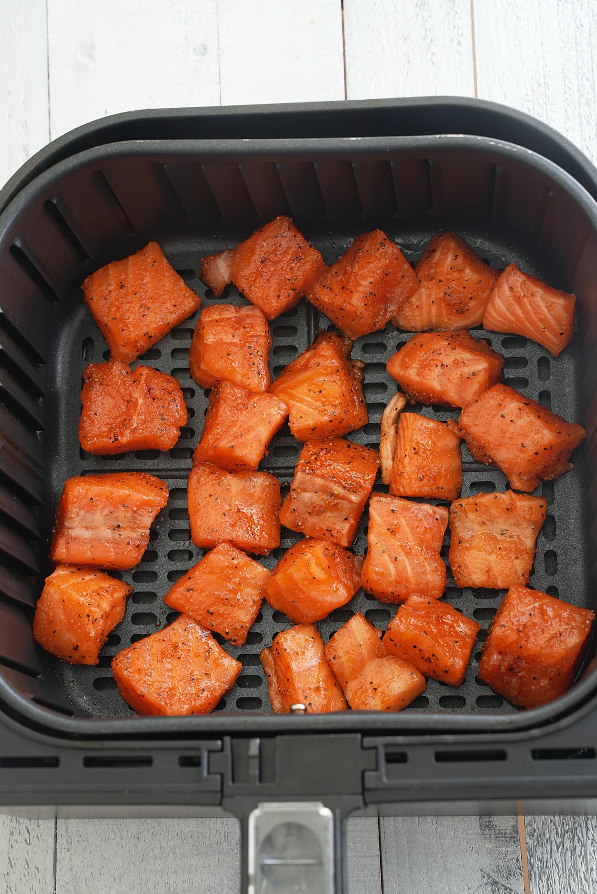
<instances>
[{"instance_id":1,"label":"tapered salmon cube, second from top in second column from left","mask_svg":"<svg viewBox=\"0 0 597 894\"><path fill-rule=\"evenodd\" d=\"M211 462L229 472L254 471L287 416L286 404L273 394L221 382L210 392L193 462Z\"/></svg>"}]
</instances>

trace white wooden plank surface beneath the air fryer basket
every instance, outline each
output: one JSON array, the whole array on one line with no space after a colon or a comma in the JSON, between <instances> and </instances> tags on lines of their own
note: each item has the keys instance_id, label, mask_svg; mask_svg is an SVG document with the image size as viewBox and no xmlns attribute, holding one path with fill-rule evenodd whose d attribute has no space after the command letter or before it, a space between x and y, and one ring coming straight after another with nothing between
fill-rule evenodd
<instances>
[{"instance_id":1,"label":"white wooden plank surface beneath the air fryer basket","mask_svg":"<svg viewBox=\"0 0 597 894\"><path fill-rule=\"evenodd\" d=\"M595 0L0 0L0 184L104 114L181 105L455 94L513 105L597 162ZM597 821L363 818L355 894L584 894ZM378 834L381 831L381 837ZM562 842L564 845L562 846ZM381 846L381 847L380 847ZM0 890L236 891L238 830L212 820L0 817Z\"/></svg>"}]
</instances>

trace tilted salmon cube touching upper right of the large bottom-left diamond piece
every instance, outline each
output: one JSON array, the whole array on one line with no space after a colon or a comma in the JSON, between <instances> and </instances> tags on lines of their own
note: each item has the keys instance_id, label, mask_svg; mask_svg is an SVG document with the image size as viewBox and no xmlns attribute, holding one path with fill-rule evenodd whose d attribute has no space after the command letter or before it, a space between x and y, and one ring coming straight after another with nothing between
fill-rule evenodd
<instances>
[{"instance_id":1,"label":"tilted salmon cube touching upper right of the large bottom-left diamond piece","mask_svg":"<svg viewBox=\"0 0 597 894\"><path fill-rule=\"evenodd\" d=\"M231 544L218 544L170 587L164 603L244 645L270 572Z\"/></svg>"}]
</instances>

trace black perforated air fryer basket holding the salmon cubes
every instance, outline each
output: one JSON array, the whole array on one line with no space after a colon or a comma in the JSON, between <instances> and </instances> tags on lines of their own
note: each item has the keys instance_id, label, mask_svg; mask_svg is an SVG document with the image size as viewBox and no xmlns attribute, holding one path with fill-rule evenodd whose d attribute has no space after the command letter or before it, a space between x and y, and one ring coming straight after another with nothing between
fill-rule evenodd
<instances>
[{"instance_id":1,"label":"black perforated air fryer basket holding the salmon cubes","mask_svg":"<svg viewBox=\"0 0 597 894\"><path fill-rule=\"evenodd\" d=\"M531 586L572 603L593 604L597 207L576 181L527 150L476 137L119 143L56 164L22 190L0 218L0 700L29 722L86 736L275 733L296 730L297 721L306 731L474 732L529 728L572 712L597 684L595 671L556 704L531 712L515 712L477 681L478 650L503 593L458 590L450 576L445 598L483 625L467 679L458 689L429 680L425 696L399 715L265 716L269 703L258 655L289 625L266 603L247 644L226 646L240 657L243 670L212 715L141 720L122 702L110 672L112 657L167 622L162 597L201 555L190 543L185 488L207 392L189 376L196 315L142 358L181 382L189 423L176 447L115 458L80 451L80 374L88 362L107 357L80 283L97 266L157 239L172 265L204 296L203 306L214 300L244 303L231 287L214 299L197 278L199 259L230 248L278 214L292 215L327 263L374 227L396 240L411 260L434 232L455 230L492 266L514 260L549 283L576 291L579 332L559 358L518 336L476 334L505 355L509 384L570 420L585 421L587 443L577 451L575 469L541 488L548 517ZM305 301L273 321L273 375L329 325ZM407 339L408 333L388 325L355 344L353 357L366 364L369 408L368 425L349 435L357 443L379 442L381 413L395 390L385 364ZM423 412L440 419L457 416L441 408ZM284 426L262 468L288 485L299 447ZM462 450L463 495L505 489L499 470ZM66 477L125 469L163 477L170 500L143 561L122 575L134 593L99 667L73 668L38 648L30 632L41 581L51 567L47 552L55 504ZM265 565L272 568L296 539L283 529L281 548L263 560ZM445 557L448 543L446 538ZM354 549L365 548L363 519ZM353 609L383 628L393 613L361 590L349 606L320 623L324 640Z\"/></svg>"}]
</instances>

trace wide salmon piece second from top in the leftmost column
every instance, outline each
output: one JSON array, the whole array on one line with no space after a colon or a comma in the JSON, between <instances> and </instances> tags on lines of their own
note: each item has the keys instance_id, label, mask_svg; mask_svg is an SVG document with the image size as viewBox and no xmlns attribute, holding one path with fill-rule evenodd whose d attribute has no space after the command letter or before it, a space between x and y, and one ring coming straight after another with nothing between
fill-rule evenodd
<instances>
[{"instance_id":1,"label":"wide salmon piece second from top in the leftmost column","mask_svg":"<svg viewBox=\"0 0 597 894\"><path fill-rule=\"evenodd\" d=\"M187 422L181 386L151 367L133 372L120 360L83 370L79 440L99 456L134 450L170 450Z\"/></svg>"}]
</instances>

